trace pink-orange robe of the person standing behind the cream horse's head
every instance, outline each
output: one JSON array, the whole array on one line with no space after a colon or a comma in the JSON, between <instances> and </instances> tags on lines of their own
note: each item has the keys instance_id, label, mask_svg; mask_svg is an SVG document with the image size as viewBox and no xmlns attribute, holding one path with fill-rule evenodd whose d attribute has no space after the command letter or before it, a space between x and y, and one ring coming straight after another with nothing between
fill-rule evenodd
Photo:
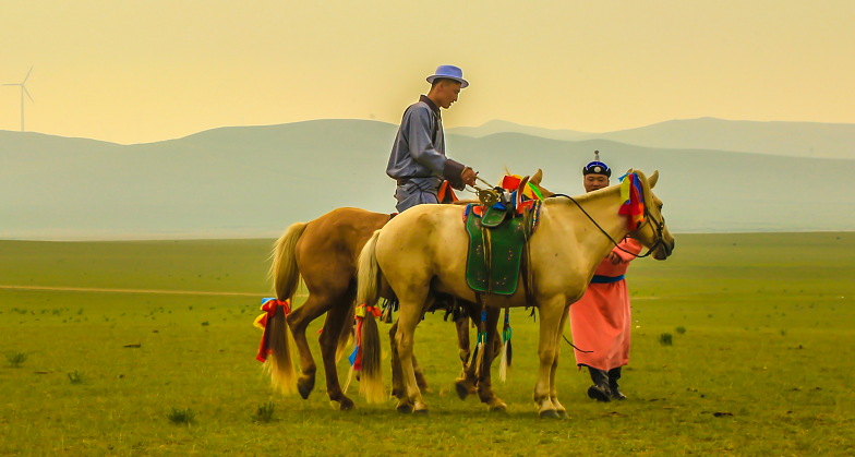
<instances>
[{"instance_id":1,"label":"pink-orange robe of the person standing behind the cream horse's head","mask_svg":"<svg viewBox=\"0 0 855 457\"><path fill-rule=\"evenodd\" d=\"M641 252L641 244L631 238L624 239L618 245L636 254ZM612 265L609 258L605 258L597 268L594 276L615 278L626 274L629 262L635 256L617 248L612 252L619 255L624 262ZM633 315L629 311L626 279L609 284L590 284L585 296L570 305L573 342L581 350L592 351L583 353L574 350L576 364L605 371L627 364L631 327Z\"/></svg>"}]
</instances>

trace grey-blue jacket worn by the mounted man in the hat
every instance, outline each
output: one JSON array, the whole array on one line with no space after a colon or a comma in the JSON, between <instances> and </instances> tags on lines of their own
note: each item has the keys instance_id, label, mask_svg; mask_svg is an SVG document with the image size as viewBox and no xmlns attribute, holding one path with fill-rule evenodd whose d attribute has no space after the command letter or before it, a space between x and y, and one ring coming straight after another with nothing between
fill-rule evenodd
<instances>
[{"instance_id":1,"label":"grey-blue jacket worn by the mounted man in the hat","mask_svg":"<svg viewBox=\"0 0 855 457\"><path fill-rule=\"evenodd\" d=\"M396 208L404 212L422 203L439 203L443 179L463 189L463 165L445 156L445 134L439 107L424 95L404 111L392 146L386 175L398 183Z\"/></svg>"}]
</instances>

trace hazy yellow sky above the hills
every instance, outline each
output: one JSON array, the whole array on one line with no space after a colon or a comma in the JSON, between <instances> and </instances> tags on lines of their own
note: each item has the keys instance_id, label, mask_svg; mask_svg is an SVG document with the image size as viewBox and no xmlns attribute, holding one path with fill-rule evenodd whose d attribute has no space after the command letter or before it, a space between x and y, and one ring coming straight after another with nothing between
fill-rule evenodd
<instances>
[{"instance_id":1,"label":"hazy yellow sky above the hills","mask_svg":"<svg viewBox=\"0 0 855 457\"><path fill-rule=\"evenodd\" d=\"M28 131L137 143L320 118L397 123L438 64L446 127L855 122L855 1L4 0ZM0 129L20 129L0 87Z\"/></svg>"}]
</instances>

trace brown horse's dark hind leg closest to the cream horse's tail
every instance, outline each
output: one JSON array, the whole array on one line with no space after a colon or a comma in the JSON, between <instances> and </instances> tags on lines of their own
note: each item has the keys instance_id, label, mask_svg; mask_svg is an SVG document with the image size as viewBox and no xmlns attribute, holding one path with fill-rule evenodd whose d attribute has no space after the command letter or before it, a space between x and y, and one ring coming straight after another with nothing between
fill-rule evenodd
<instances>
[{"instance_id":1,"label":"brown horse's dark hind leg closest to the cream horse's tail","mask_svg":"<svg viewBox=\"0 0 855 457\"><path fill-rule=\"evenodd\" d=\"M321 332L321 358L324 361L324 373L326 375L326 393L329 399L338 401L341 411L353 409L353 400L341 392L341 384L338 382L338 370L336 368L336 351L338 340L346 325L353 325L352 315L349 312L353 297L350 294L336 300L337 306L326 313L324 329Z\"/></svg>"}]
</instances>

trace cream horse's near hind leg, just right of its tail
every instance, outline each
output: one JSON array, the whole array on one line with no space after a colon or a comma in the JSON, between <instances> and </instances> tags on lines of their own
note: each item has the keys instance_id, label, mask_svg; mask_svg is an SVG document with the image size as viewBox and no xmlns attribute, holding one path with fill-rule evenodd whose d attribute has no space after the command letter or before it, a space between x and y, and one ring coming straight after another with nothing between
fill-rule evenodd
<instances>
[{"instance_id":1,"label":"cream horse's near hind leg, just right of its tail","mask_svg":"<svg viewBox=\"0 0 855 457\"><path fill-rule=\"evenodd\" d=\"M423 294L423 297L425 297ZM416 381L416 370L412 364L413 334L416 327L422 320L423 310L430 308L433 301L430 297L423 300L405 300L401 298L400 314L398 315L398 332L395 333L395 345L398 348L401 374L406 389L407 402L398 402L398 411L407 412L407 406L411 405L413 412L428 413L428 405L422 399L419 384ZM428 301L425 303L425 300Z\"/></svg>"}]
</instances>

